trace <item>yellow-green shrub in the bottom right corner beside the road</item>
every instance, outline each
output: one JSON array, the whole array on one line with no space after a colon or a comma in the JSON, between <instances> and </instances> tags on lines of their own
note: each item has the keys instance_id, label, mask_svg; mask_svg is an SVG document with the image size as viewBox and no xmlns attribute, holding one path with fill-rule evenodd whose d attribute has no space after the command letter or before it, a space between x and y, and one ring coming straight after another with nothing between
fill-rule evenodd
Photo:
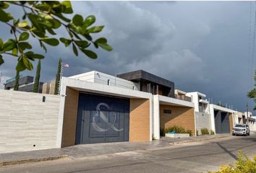
<instances>
[{"instance_id":1,"label":"yellow-green shrub in the bottom right corner beside the road","mask_svg":"<svg viewBox=\"0 0 256 173\"><path fill-rule=\"evenodd\" d=\"M235 164L221 165L221 169L217 172L209 173L251 173L256 172L256 156L250 160L242 151L238 152L238 160Z\"/></svg>"}]
</instances>

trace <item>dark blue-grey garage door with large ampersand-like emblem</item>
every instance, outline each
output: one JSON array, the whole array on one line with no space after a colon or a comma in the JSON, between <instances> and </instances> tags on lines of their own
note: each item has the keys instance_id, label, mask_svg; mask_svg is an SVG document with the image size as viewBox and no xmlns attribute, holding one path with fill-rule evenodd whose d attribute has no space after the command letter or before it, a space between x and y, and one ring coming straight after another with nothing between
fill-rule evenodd
<instances>
[{"instance_id":1,"label":"dark blue-grey garage door with large ampersand-like emblem","mask_svg":"<svg viewBox=\"0 0 256 173\"><path fill-rule=\"evenodd\" d=\"M129 140L129 99L80 93L76 144Z\"/></svg>"}]
</instances>

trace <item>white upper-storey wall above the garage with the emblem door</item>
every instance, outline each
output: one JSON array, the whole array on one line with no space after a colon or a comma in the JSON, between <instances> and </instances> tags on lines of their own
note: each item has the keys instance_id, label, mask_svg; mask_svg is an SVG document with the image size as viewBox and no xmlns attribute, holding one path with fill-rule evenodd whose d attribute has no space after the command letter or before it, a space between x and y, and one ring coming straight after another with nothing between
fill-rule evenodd
<instances>
[{"instance_id":1,"label":"white upper-storey wall above the garage with the emblem door","mask_svg":"<svg viewBox=\"0 0 256 173\"><path fill-rule=\"evenodd\" d=\"M118 86L125 89L140 90L140 84L127 81L125 79L118 78L116 76L111 76L109 74L104 74L98 71L89 71L85 74L78 74L76 76L70 76L69 78L78 79L80 81L90 81L97 84L108 85L108 80L110 81L110 86Z\"/></svg>"}]
</instances>

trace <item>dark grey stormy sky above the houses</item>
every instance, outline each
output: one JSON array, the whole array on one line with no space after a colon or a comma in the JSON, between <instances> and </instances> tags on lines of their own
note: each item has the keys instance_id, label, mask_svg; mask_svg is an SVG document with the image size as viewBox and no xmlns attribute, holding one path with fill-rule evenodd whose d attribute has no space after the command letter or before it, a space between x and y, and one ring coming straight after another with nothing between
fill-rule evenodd
<instances>
[{"instance_id":1,"label":"dark grey stormy sky above the houses","mask_svg":"<svg viewBox=\"0 0 256 173\"><path fill-rule=\"evenodd\" d=\"M255 62L249 58L253 48L255 3L249 1L72 1L74 13L94 14L96 25L105 25L101 34L114 50L96 50L98 59L80 54L72 47L48 48L42 61L41 81L55 78L59 58L69 63L64 76L91 70L116 75L142 69L174 81L176 89L202 92L213 102L233 105L244 111L246 94L252 88ZM251 7L251 8L250 8ZM251 32L249 32L251 9ZM9 9L19 17L22 11ZM9 28L0 23L1 37L9 37ZM58 36L67 36L64 28ZM249 42L251 35L251 42ZM43 53L38 42L30 40L34 50ZM17 58L4 56L1 85L13 77ZM36 64L34 65L36 67ZM248 70L249 69L249 70ZM35 75L24 71L22 75ZM0 86L1 87L1 86Z\"/></svg>"}]
</instances>

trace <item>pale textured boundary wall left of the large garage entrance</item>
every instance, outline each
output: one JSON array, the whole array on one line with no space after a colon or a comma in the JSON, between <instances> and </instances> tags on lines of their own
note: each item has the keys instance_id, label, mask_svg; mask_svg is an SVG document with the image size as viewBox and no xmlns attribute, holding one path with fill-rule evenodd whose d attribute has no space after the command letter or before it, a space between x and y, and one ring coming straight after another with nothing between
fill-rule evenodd
<instances>
[{"instance_id":1,"label":"pale textured boundary wall left of the large garage entrance","mask_svg":"<svg viewBox=\"0 0 256 173\"><path fill-rule=\"evenodd\" d=\"M59 102L56 95L0 90L0 153L56 148Z\"/></svg>"}]
</instances>

